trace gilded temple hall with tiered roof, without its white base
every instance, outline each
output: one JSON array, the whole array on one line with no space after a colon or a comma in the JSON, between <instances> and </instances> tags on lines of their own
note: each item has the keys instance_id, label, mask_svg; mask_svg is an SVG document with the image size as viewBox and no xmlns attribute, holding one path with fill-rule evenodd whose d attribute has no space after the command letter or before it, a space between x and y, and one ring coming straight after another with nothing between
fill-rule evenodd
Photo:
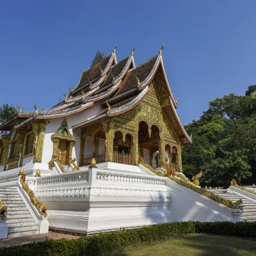
<instances>
[{"instance_id":1,"label":"gilded temple hall with tiered roof, without its white base","mask_svg":"<svg viewBox=\"0 0 256 256\"><path fill-rule=\"evenodd\" d=\"M99 52L97 52L99 55ZM99 56L96 56L99 57ZM181 151L191 143L177 115L162 49L136 65L134 49L117 61L111 54L82 70L75 88L49 109L24 111L0 126L0 172L41 163L62 172L97 163L161 163L182 172ZM83 168L82 168L83 169Z\"/></svg>"}]
</instances>

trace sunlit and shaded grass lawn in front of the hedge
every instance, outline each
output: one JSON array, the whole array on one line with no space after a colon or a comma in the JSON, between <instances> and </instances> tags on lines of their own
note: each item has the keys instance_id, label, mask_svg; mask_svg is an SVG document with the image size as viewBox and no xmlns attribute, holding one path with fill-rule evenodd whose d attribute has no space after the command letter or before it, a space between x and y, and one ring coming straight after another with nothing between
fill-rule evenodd
<instances>
[{"instance_id":1,"label":"sunlit and shaded grass lawn in front of the hedge","mask_svg":"<svg viewBox=\"0 0 256 256\"><path fill-rule=\"evenodd\" d=\"M256 256L256 239L193 234L128 248L116 256Z\"/></svg>"}]
</instances>

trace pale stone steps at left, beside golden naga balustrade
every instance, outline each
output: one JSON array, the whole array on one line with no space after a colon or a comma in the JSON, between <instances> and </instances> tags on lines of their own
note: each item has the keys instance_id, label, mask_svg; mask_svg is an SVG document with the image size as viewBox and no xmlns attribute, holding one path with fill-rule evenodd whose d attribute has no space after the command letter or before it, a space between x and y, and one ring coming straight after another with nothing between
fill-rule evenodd
<instances>
[{"instance_id":1,"label":"pale stone steps at left, beside golden naga balustrade","mask_svg":"<svg viewBox=\"0 0 256 256\"><path fill-rule=\"evenodd\" d=\"M39 234L38 225L16 188L0 188L0 198L8 206L8 237Z\"/></svg>"}]
</instances>

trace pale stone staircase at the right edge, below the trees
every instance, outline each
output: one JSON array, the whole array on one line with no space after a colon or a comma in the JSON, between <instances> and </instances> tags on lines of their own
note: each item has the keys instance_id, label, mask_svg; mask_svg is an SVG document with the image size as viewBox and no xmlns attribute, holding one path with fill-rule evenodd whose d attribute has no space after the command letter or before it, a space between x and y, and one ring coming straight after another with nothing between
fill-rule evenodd
<instances>
[{"instance_id":1,"label":"pale stone staircase at the right edge, below the trees","mask_svg":"<svg viewBox=\"0 0 256 256\"><path fill-rule=\"evenodd\" d=\"M214 191L212 192L214 193ZM256 221L256 201L233 191L227 191L227 193L218 193L218 191L216 191L216 194L222 198L232 200L233 202L237 202L241 199L242 204L240 206L243 206L243 215L241 215L241 217L243 220L251 222Z\"/></svg>"}]
</instances>

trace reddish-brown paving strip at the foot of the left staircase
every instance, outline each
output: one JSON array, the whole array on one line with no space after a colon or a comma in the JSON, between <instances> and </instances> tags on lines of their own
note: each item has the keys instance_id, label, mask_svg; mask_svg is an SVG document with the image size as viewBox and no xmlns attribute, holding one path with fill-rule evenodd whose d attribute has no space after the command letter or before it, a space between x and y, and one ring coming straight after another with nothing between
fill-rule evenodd
<instances>
[{"instance_id":1,"label":"reddish-brown paving strip at the foot of the left staircase","mask_svg":"<svg viewBox=\"0 0 256 256\"><path fill-rule=\"evenodd\" d=\"M1 247L10 247L15 245L29 244L29 243L38 243L45 241L47 239L58 240L58 239L77 239L80 236L71 236L67 234L59 234L55 232L49 232L47 234L33 235L33 236L22 236L22 237L12 237L6 239L0 239L0 248Z\"/></svg>"}]
</instances>

